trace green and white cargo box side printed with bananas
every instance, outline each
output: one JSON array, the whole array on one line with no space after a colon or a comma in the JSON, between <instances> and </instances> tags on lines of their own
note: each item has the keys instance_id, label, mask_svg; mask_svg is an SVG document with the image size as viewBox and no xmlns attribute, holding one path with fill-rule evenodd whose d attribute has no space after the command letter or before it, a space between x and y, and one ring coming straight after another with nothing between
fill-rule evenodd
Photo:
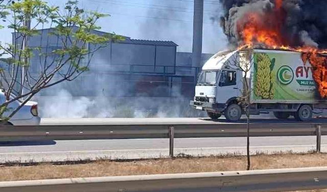
<instances>
[{"instance_id":1,"label":"green and white cargo box side printed with bananas","mask_svg":"<svg viewBox=\"0 0 327 192\"><path fill-rule=\"evenodd\" d=\"M241 54L242 55L242 54ZM322 100L309 61L293 51L254 50L251 99L255 103L314 103Z\"/></svg>"}]
</instances>

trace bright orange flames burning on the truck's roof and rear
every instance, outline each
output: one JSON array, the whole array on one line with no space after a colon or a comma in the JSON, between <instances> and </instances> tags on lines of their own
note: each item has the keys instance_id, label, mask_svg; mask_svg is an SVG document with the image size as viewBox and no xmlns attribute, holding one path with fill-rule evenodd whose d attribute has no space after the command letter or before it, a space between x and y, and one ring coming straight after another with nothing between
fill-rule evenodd
<instances>
[{"instance_id":1,"label":"bright orange flames burning on the truck's roof and rear","mask_svg":"<svg viewBox=\"0 0 327 192\"><path fill-rule=\"evenodd\" d=\"M242 39L239 49L254 47L301 52L303 64L307 62L313 67L313 79L317 84L319 94L327 98L327 56L321 54L327 50L315 47L293 47L292 40L283 35L286 14L283 0L275 0L271 11L248 12L238 20L237 32Z\"/></svg>"}]
</instances>

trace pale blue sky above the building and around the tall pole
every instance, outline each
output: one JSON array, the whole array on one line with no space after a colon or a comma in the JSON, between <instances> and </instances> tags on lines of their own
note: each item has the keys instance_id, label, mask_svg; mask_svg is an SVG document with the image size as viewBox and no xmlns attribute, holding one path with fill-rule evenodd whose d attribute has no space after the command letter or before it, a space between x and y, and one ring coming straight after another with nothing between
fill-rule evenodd
<instances>
[{"instance_id":1,"label":"pale blue sky above the building and around the tall pole","mask_svg":"<svg viewBox=\"0 0 327 192\"><path fill-rule=\"evenodd\" d=\"M48 0L63 7L66 0ZM216 53L227 47L227 39L211 16L220 15L215 0L204 0L203 53ZM99 20L101 31L134 39L171 40L178 52L192 52L193 0L80 0L80 7L111 16ZM2 42L11 42L11 31L3 29Z\"/></svg>"}]
</instances>

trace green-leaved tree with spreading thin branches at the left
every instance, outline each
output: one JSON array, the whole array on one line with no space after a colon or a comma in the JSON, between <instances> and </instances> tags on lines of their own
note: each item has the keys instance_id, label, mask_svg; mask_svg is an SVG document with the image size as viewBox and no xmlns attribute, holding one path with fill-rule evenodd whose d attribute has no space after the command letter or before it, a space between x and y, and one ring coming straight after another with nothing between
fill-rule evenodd
<instances>
[{"instance_id":1,"label":"green-leaved tree with spreading thin branches at the left","mask_svg":"<svg viewBox=\"0 0 327 192\"><path fill-rule=\"evenodd\" d=\"M0 105L0 120L9 120L41 90L76 79L88 71L97 50L110 41L123 40L119 35L96 32L100 29L97 21L105 16L80 9L78 1L68 1L63 10L42 0L0 1L5 24L1 28L13 31L12 44L0 42L0 89L6 97ZM36 36L39 45L29 41ZM36 65L38 71L33 73ZM8 112L8 106L20 99L21 105Z\"/></svg>"}]
</instances>

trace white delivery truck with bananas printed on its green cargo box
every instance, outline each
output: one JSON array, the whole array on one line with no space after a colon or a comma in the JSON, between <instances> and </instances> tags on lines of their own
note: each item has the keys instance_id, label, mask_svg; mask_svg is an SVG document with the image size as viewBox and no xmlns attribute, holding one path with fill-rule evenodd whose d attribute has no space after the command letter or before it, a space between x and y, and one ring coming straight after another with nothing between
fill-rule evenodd
<instances>
[{"instance_id":1,"label":"white delivery truck with bananas printed on its green cargo box","mask_svg":"<svg viewBox=\"0 0 327 192\"><path fill-rule=\"evenodd\" d=\"M294 116L309 121L313 112L327 109L326 100L316 89L312 67L309 61L303 63L300 52L248 51L220 52L211 57L202 68L190 104L212 119L224 115L228 121L240 120L244 113L238 98L243 91L244 72L235 66L250 62L251 115L273 112L278 119ZM249 53L250 57L244 56Z\"/></svg>"}]
</instances>

